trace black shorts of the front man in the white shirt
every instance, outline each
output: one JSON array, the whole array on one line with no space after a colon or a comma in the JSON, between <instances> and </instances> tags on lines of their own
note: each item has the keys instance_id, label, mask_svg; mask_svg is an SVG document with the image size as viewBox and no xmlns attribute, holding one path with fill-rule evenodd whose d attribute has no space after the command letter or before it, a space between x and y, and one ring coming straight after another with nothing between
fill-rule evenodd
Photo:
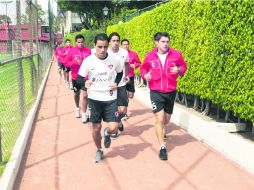
<instances>
[{"instance_id":1,"label":"black shorts of the front man in the white shirt","mask_svg":"<svg viewBox=\"0 0 254 190\"><path fill-rule=\"evenodd\" d=\"M88 98L88 105L90 122L100 123L101 119L105 122L119 122L117 100L98 101Z\"/></svg>"}]
</instances>

